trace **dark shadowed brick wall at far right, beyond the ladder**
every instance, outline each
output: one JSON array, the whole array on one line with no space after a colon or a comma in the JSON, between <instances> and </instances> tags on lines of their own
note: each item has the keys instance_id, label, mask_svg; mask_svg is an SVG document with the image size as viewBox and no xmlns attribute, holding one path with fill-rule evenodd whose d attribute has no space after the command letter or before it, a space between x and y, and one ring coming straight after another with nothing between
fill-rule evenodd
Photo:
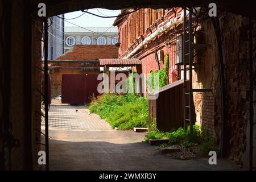
<instances>
[{"instance_id":1,"label":"dark shadowed brick wall at far right, beyond the ladder","mask_svg":"<svg viewBox=\"0 0 256 182\"><path fill-rule=\"evenodd\" d=\"M226 147L230 159L241 166L246 166L248 160L244 158L247 156L246 143L249 134L246 131L249 121L249 21L242 16L224 13L220 24L226 87ZM216 136L217 142L220 142L221 99L216 36L210 20L203 22L202 28L207 34L201 35L201 40L211 44L212 49L201 54L201 69L197 71L197 81L213 89L212 93L203 94L203 125ZM253 35L255 45L255 27Z\"/></svg>"}]
</instances>

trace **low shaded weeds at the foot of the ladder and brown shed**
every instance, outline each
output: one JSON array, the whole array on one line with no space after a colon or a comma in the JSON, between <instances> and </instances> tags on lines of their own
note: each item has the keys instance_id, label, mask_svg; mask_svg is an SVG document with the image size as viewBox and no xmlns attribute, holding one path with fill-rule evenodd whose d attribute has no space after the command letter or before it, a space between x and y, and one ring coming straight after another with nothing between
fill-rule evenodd
<instances>
[{"instance_id":1,"label":"low shaded weeds at the foot of the ladder and brown shed","mask_svg":"<svg viewBox=\"0 0 256 182\"><path fill-rule=\"evenodd\" d=\"M183 148L199 145L201 154L208 155L209 151L218 151L219 148L216 145L214 138L206 129L200 130L200 126L193 126L193 133L190 133L190 127L187 127L185 131L182 127L177 130L173 130L168 133L163 133L156 128L155 120L151 125L151 129L148 129L148 134L145 137L146 142L149 139L155 138L168 138L170 144L181 144Z\"/></svg>"}]
</instances>

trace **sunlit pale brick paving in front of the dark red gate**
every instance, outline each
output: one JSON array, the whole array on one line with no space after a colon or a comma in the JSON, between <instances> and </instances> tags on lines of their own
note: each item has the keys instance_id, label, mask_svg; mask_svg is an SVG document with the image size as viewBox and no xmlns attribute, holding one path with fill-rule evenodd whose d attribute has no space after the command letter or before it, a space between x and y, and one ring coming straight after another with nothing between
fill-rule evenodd
<instances>
[{"instance_id":1,"label":"sunlit pale brick paving in front of the dark red gate","mask_svg":"<svg viewBox=\"0 0 256 182\"><path fill-rule=\"evenodd\" d=\"M49 106L48 113L49 130L113 130L109 123L97 114L89 114L86 106L61 105L53 102ZM44 121L42 129L44 129Z\"/></svg>"}]
</instances>

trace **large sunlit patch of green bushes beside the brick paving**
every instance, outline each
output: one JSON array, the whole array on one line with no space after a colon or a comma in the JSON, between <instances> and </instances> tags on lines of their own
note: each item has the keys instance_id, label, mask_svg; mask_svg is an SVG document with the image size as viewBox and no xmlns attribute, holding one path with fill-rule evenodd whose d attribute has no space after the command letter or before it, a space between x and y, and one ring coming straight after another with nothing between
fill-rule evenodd
<instances>
[{"instance_id":1,"label":"large sunlit patch of green bushes beside the brick paving","mask_svg":"<svg viewBox=\"0 0 256 182\"><path fill-rule=\"evenodd\" d=\"M94 97L89 110L119 130L148 125L148 100L135 94L103 94Z\"/></svg>"}]
</instances>

